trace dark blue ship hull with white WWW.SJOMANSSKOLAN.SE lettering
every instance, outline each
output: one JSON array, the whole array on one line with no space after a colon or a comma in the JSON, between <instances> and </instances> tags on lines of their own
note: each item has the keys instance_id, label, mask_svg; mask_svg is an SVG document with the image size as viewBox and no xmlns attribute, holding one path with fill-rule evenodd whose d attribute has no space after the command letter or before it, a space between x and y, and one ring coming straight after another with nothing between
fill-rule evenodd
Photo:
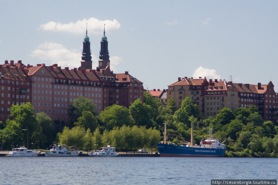
<instances>
[{"instance_id":1,"label":"dark blue ship hull with white WWW.SJOMANSSKOLAN.SE lettering","mask_svg":"<svg viewBox=\"0 0 278 185\"><path fill-rule=\"evenodd\" d=\"M160 157L223 157L226 149L156 144Z\"/></svg>"}]
</instances>

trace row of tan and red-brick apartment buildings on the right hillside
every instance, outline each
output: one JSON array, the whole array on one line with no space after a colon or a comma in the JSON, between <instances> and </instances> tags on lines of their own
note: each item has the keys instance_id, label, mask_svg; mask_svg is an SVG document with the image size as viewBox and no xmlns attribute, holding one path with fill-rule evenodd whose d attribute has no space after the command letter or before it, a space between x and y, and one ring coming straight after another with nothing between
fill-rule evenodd
<instances>
[{"instance_id":1,"label":"row of tan and red-brick apartment buildings on the right hillside","mask_svg":"<svg viewBox=\"0 0 278 185\"><path fill-rule=\"evenodd\" d=\"M168 85L166 93L167 100L172 97L178 109L185 97L192 96L200 109L201 117L216 117L223 107L235 110L238 107L249 108L255 105L265 121L277 120L277 99L271 81L267 85L250 85L217 79L208 81L206 77L184 77Z\"/></svg>"}]
</instances>

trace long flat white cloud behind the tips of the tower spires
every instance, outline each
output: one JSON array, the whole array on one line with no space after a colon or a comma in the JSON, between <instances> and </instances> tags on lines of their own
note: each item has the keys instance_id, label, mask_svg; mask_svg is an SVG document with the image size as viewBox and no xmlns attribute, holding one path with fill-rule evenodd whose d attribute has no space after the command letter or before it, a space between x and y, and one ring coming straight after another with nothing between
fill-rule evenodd
<instances>
[{"instance_id":1,"label":"long flat white cloud behind the tips of the tower spires","mask_svg":"<svg viewBox=\"0 0 278 185\"><path fill-rule=\"evenodd\" d=\"M67 24L50 21L48 23L41 24L39 29L45 31L62 31L62 32L73 33L75 35L82 35L85 33L86 23L87 23L88 32L90 34L103 33L104 23L105 23L105 31L112 32L120 29L120 23L116 19L114 19L113 21L111 20L102 21L102 20L95 19L93 17L88 20L83 19L83 20L78 20L75 23L71 22Z\"/></svg>"}]
</instances>

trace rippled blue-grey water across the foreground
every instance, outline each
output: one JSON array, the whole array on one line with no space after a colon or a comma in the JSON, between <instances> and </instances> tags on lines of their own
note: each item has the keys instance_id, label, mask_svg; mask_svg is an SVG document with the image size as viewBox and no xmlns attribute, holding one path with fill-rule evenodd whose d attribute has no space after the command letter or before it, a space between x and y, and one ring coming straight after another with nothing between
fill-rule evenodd
<instances>
[{"instance_id":1,"label":"rippled blue-grey water across the foreground","mask_svg":"<svg viewBox=\"0 0 278 185\"><path fill-rule=\"evenodd\" d=\"M277 158L1 157L0 184L210 184L277 179Z\"/></svg>"}]
</instances>

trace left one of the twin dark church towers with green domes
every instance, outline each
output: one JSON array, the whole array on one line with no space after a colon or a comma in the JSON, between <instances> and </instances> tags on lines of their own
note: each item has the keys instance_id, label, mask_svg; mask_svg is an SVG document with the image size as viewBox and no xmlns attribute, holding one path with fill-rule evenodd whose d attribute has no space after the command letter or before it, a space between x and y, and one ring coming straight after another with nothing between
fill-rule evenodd
<instances>
[{"instance_id":1,"label":"left one of the twin dark church towers with green domes","mask_svg":"<svg viewBox=\"0 0 278 185\"><path fill-rule=\"evenodd\" d=\"M87 36L87 26L86 26L86 36L83 41L83 50L81 57L81 66L79 68L92 69L92 56L90 49L90 39ZM79 69L78 68L78 69Z\"/></svg>"}]
</instances>

